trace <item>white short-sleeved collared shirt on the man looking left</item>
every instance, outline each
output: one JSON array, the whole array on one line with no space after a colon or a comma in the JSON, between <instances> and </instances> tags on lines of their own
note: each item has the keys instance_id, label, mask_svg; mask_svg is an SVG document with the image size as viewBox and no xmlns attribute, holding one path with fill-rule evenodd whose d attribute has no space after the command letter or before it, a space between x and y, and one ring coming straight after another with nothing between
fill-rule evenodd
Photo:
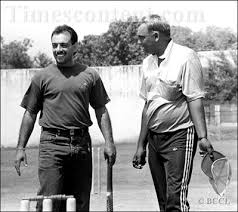
<instances>
[{"instance_id":1,"label":"white short-sleeved collared shirt on the man looking left","mask_svg":"<svg viewBox=\"0 0 238 212\"><path fill-rule=\"evenodd\" d=\"M192 49L169 42L158 67L156 55L143 60L140 97L148 103L147 126L162 133L193 125L187 102L205 96L200 60Z\"/></svg>"}]
</instances>

